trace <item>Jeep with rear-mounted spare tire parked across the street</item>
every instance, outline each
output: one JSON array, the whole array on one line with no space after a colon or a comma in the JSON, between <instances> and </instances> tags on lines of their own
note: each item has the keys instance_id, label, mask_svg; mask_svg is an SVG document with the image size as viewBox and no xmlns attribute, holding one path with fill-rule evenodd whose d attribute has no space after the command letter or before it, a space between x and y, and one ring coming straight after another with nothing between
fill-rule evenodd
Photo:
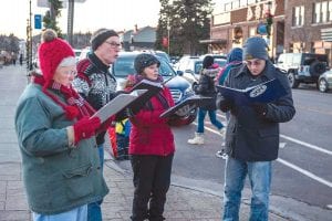
<instances>
[{"instance_id":1,"label":"Jeep with rear-mounted spare tire parked across the street","mask_svg":"<svg viewBox=\"0 0 332 221\"><path fill-rule=\"evenodd\" d=\"M287 72L290 86L297 88L300 83L318 83L329 62L325 54L283 53L276 66Z\"/></svg>"}]
</instances>

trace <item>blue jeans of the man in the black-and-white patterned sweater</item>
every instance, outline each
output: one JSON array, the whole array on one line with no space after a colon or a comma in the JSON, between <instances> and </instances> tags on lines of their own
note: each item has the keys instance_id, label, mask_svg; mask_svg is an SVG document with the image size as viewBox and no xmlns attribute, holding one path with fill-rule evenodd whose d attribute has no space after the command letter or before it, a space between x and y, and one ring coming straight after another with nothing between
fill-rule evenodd
<instances>
[{"instance_id":1,"label":"blue jeans of the man in the black-and-white patterned sweater","mask_svg":"<svg viewBox=\"0 0 332 221\"><path fill-rule=\"evenodd\" d=\"M100 154L100 161L101 161L101 170L103 172L104 168L104 145L100 145L98 147L98 154ZM87 221L102 221L102 202L96 201L96 202L91 202L87 204Z\"/></svg>"}]
</instances>

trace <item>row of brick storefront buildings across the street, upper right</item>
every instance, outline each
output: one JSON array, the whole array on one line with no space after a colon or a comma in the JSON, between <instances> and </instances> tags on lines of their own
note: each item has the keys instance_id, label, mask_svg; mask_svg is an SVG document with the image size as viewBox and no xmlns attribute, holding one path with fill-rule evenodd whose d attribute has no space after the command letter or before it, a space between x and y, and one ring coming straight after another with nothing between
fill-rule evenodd
<instances>
[{"instance_id":1,"label":"row of brick storefront buildings across the street, upper right","mask_svg":"<svg viewBox=\"0 0 332 221\"><path fill-rule=\"evenodd\" d=\"M262 35L272 57L282 52L326 53L332 59L332 0L215 0L209 51L227 53ZM272 15L267 33L267 15Z\"/></svg>"}]
</instances>

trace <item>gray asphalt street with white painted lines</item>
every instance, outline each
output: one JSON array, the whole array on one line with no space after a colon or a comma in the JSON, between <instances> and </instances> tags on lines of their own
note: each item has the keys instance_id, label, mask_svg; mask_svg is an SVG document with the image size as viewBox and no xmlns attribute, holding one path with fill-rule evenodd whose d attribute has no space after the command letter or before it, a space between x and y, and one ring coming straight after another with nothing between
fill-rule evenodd
<instances>
[{"instance_id":1,"label":"gray asphalt street with white painted lines","mask_svg":"<svg viewBox=\"0 0 332 221\"><path fill-rule=\"evenodd\" d=\"M332 93L323 94L304 85L293 90L293 99L294 118L280 124L280 151L273 164L271 207L278 204L281 212L308 213L305 217L310 215L311 207L330 213L326 208L332 204ZM226 120L220 112L218 118L222 123ZM187 144L194 136L196 122L174 128L177 150L173 182L222 194L225 160L215 156L222 139L208 117L205 128L203 146ZM120 165L131 170L128 162ZM248 180L246 188L245 198L250 202ZM289 209L284 201L301 202L301 207Z\"/></svg>"}]
</instances>

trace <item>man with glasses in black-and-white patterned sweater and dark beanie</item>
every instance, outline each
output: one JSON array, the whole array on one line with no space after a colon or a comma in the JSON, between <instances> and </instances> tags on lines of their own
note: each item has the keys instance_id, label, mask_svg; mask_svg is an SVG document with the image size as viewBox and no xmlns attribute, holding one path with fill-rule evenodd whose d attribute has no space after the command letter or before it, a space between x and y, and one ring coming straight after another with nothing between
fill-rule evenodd
<instances>
[{"instance_id":1,"label":"man with glasses in black-and-white patterned sweater and dark beanie","mask_svg":"<svg viewBox=\"0 0 332 221\"><path fill-rule=\"evenodd\" d=\"M121 50L118 34L114 30L100 29L91 36L91 53L77 64L77 76L73 82L76 91L89 102L94 109L100 109L116 96L116 80L110 73ZM102 131L96 136L101 161L101 172L104 162L104 136ZM87 206L87 220L101 221L101 201Z\"/></svg>"}]
</instances>

